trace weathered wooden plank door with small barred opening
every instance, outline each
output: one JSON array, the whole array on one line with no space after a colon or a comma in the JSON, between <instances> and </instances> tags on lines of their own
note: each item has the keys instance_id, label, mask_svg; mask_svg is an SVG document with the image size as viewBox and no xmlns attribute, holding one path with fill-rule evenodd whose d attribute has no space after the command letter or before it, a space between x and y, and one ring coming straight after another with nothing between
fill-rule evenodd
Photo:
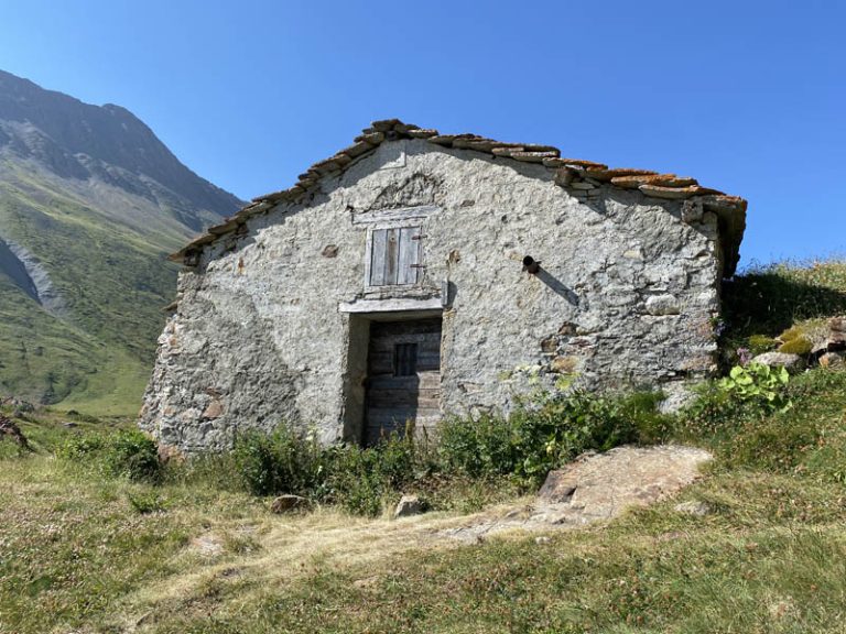
<instances>
[{"instance_id":1,"label":"weathered wooden plank door with small barred opening","mask_svg":"<svg viewBox=\"0 0 846 634\"><path fill-rule=\"evenodd\" d=\"M365 442L441 417L441 318L373 321L368 352Z\"/></svg>"}]
</instances>

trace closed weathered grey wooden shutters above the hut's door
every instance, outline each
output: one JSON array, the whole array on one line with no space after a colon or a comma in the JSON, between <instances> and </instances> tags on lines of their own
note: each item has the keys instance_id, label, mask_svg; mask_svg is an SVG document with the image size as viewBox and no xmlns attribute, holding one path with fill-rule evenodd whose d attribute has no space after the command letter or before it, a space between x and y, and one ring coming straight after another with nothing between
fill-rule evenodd
<instances>
[{"instance_id":1,"label":"closed weathered grey wooden shutters above the hut's door","mask_svg":"<svg viewBox=\"0 0 846 634\"><path fill-rule=\"evenodd\" d=\"M370 286L416 284L420 242L420 227L373 229Z\"/></svg>"}]
</instances>

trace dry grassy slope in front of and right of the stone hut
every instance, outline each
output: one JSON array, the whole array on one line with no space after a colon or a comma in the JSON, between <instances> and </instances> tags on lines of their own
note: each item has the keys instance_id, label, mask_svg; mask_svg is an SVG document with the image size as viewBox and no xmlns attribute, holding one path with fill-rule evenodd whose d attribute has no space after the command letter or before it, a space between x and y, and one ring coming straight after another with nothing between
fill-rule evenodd
<instances>
[{"instance_id":1,"label":"dry grassy slope in front of and right of the stone hut","mask_svg":"<svg viewBox=\"0 0 846 634\"><path fill-rule=\"evenodd\" d=\"M846 263L758 270L735 288L760 294L726 307L727 359L749 337L843 313ZM807 305L785 300L796 288L793 298ZM622 407L593 403L557 409L567 431L561 460L576 438L574 415L596 403ZM501 419L482 426L487 436L454 436L462 442L441 449L429 472L359 491L377 510L402 492L431 502L433 512L393 521L343 496L272 515L270 499L253 494L264 482L256 466L278 464L273 447L292 440L247 442L241 458L258 462L223 456L161 467L118 419L76 416L68 427L50 411L24 414L17 422L34 451L0 440L0 632L843 632L846 371L801 373L779 389L777 405L713 384L675 417L644 416L642 406L629 426L636 440L714 452L701 481L607 524L473 545L437 533L467 522L462 514L523 503L514 496L536 481L525 461L467 459L502 447ZM631 439L579 438L600 436ZM370 459L368 472L388 473L395 453ZM269 490L294 482L321 499L304 481L285 482ZM681 501L709 513L679 512Z\"/></svg>"}]
</instances>

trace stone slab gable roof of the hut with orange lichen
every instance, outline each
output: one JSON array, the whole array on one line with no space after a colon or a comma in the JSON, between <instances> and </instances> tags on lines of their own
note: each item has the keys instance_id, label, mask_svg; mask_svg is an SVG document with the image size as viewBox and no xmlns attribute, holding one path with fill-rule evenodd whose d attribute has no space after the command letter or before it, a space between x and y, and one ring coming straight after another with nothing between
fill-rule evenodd
<instances>
[{"instance_id":1,"label":"stone slab gable roof of the hut with orange lichen","mask_svg":"<svg viewBox=\"0 0 846 634\"><path fill-rule=\"evenodd\" d=\"M403 123L399 119L373 121L370 128L362 130L354 139L352 145L344 147L333 156L319 161L297 177L293 187L273 192L253 198L237 214L223 223L209 227L208 232L194 239L170 260L185 262L186 258L199 252L203 247L215 242L219 237L232 233L242 227L251 216L263 214L279 203L293 201L312 192L324 176L334 176L344 172L352 162L375 152L386 141L400 139L422 139L442 147L473 150L492 156L525 163L539 163L554 172L555 183L570 188L575 183L596 186L611 185L622 189L638 189L644 196L662 199L697 199L707 211L714 211L719 218L719 232L723 247L724 275L735 272L739 260L740 240L746 228L747 201L738 196L701 186L695 178L659 174L649 170L628 167L610 168L603 163L582 158L563 158L561 151L552 145L536 143L507 143L487 139L477 134L441 134L437 130L419 128Z\"/></svg>"}]
</instances>

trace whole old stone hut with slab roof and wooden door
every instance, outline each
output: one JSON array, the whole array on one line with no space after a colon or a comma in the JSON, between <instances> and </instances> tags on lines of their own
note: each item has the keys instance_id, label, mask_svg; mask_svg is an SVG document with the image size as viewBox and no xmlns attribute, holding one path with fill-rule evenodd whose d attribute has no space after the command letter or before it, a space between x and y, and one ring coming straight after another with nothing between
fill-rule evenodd
<instances>
[{"instance_id":1,"label":"whole old stone hut with slab roof and wooden door","mask_svg":"<svg viewBox=\"0 0 846 634\"><path fill-rule=\"evenodd\" d=\"M377 121L172 259L140 425L185 452L289 422L372 442L538 386L714 370L746 201L549 145Z\"/></svg>"}]
</instances>

